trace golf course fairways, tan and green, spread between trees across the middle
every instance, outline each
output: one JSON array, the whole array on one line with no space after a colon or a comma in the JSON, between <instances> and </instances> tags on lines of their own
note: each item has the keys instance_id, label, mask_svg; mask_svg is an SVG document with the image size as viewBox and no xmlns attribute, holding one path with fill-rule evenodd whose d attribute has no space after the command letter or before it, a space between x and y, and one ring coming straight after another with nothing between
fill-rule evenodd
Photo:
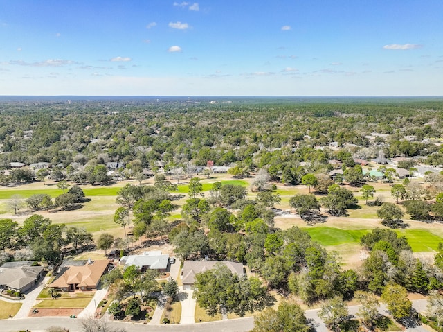
<instances>
[{"instance_id":1,"label":"golf course fairways, tan and green, spread between trees across the middle","mask_svg":"<svg viewBox=\"0 0 443 332\"><path fill-rule=\"evenodd\" d=\"M248 198L255 198L257 193L251 192L250 185L253 182L253 177L248 179L233 179L230 175L221 174L213 175L210 178L200 177L201 184L203 184L203 191L208 192L214 182L221 182L221 184L235 184L244 186L248 189ZM174 204L182 205L188 199L188 183L190 179L181 180L177 191L172 194L181 194L183 197L180 200L174 201ZM173 180L170 180L174 182ZM53 223L64 223L66 226L85 227L87 231L93 233L94 238L97 238L102 232L110 233L116 237L123 236L123 228L114 222L114 213L118 208L116 204L116 196L120 188L127 183L137 185L138 182L123 181L110 186L81 186L87 202L82 203L79 209L73 211L20 211L19 215L12 215L7 206L7 200L12 195L21 195L24 198L30 197L36 193L47 193L51 197L60 195L63 191L58 189L54 182L47 182L43 185L42 182L35 182L33 184L26 184L22 186L0 188L0 218L12 218L19 222L23 222L33 213L41 214L45 218L50 218ZM153 184L153 179L144 180L143 184ZM72 185L72 184L71 184ZM383 196L384 201L395 202L395 199L390 197L390 184L371 183L377 190L375 197ZM382 227L381 220L377 217L377 209L379 207L372 207L365 204L365 200L361 198L361 191L359 188L349 187L354 195L359 198L359 207L350 209L349 216L343 218L336 218L328 216L325 223L314 226L307 226L300 218L284 218L284 220L277 221L278 227L287 229L296 225L307 230L311 237L318 241L321 245L327 247L328 250L336 250L345 261L351 262L359 256L361 252L360 238L375 227ZM311 189L314 193L314 190ZM289 207L289 199L296 194L307 194L309 188L307 186L284 186L278 184L278 189L274 193L280 194L282 201L275 207L282 210L289 210L293 213L293 209ZM315 194L315 193L314 193ZM321 196L317 195L317 198ZM370 200L374 200L371 198ZM26 210L26 208L25 208ZM325 213L325 212L324 212ZM325 213L327 214L327 213ZM180 210L172 211L170 220L177 220L181 218ZM277 218L278 219L278 218ZM405 220L410 224L406 229L396 230L399 235L404 235L413 248L414 252L432 253L437 250L438 243L443 242L443 225L442 224L424 224L422 222L413 222Z\"/></svg>"}]
</instances>

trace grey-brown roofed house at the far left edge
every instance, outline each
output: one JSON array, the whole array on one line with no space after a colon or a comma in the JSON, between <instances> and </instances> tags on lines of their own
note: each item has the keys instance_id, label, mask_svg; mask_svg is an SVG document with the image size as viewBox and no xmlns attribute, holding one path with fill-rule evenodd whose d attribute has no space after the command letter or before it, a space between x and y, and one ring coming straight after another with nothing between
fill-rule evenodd
<instances>
[{"instance_id":1,"label":"grey-brown roofed house at the far left edge","mask_svg":"<svg viewBox=\"0 0 443 332\"><path fill-rule=\"evenodd\" d=\"M31 266L30 262L12 262L22 263L8 265L5 263L0 267L0 288L15 290L16 292L26 292L37 284L42 277L42 266Z\"/></svg>"}]
</instances>

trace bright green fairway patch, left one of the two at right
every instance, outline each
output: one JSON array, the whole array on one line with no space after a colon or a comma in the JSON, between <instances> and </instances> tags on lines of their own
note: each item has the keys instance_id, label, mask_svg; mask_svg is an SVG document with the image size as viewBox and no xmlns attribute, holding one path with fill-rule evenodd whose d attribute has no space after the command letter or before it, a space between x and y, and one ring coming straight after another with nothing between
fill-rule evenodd
<instances>
[{"instance_id":1,"label":"bright green fairway patch, left one of the two at right","mask_svg":"<svg viewBox=\"0 0 443 332\"><path fill-rule=\"evenodd\" d=\"M333 227L305 227L314 241L321 245L341 245L343 243L359 243L361 236L368 233L368 229L339 229Z\"/></svg>"}]
</instances>

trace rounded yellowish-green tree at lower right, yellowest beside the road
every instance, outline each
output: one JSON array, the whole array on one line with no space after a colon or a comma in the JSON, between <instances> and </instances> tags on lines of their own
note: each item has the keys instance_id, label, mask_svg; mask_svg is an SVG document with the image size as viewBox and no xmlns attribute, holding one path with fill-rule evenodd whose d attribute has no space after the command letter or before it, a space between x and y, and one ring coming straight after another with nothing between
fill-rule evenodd
<instances>
[{"instance_id":1,"label":"rounded yellowish-green tree at lower right, yellowest beside the road","mask_svg":"<svg viewBox=\"0 0 443 332\"><path fill-rule=\"evenodd\" d=\"M399 320L410 315L412 302L408 299L408 291L397 283L388 283L381 293L381 301L387 304L392 317Z\"/></svg>"}]
</instances>

